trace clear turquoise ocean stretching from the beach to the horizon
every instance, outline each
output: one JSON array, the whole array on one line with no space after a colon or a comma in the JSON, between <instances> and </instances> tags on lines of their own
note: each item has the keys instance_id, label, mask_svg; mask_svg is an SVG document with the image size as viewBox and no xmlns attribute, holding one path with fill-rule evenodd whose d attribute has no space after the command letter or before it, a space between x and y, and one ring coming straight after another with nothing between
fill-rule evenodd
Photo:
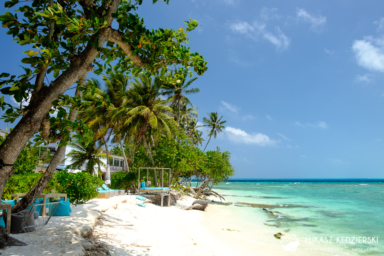
<instances>
[{"instance_id":1,"label":"clear turquoise ocean stretching from the beach to the horizon","mask_svg":"<svg viewBox=\"0 0 384 256\"><path fill-rule=\"evenodd\" d=\"M356 255L384 255L384 179L231 179L213 190L232 203L225 207L238 218L297 235L301 244L333 237L333 244L317 244L366 248L351 251ZM265 208L270 212L242 203L270 205Z\"/></svg>"}]
</instances>

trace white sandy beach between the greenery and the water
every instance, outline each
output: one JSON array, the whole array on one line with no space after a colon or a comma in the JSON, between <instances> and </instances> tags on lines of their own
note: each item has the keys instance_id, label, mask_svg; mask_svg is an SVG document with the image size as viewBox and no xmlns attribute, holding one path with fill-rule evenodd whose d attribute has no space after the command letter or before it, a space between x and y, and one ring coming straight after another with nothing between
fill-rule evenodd
<instances>
[{"instance_id":1,"label":"white sandy beach between the greenery and the water","mask_svg":"<svg viewBox=\"0 0 384 256\"><path fill-rule=\"evenodd\" d=\"M91 244L84 238L90 232L108 244L112 255L278 255L285 252L273 234L278 228L263 221L244 221L230 207L209 205L206 211L182 210L193 198L177 206L159 207L136 195L94 199L71 206L71 216L52 217L42 230L12 236L28 243L8 247L2 255L83 255ZM229 207L229 208L228 208ZM308 246L306 246L308 247ZM296 255L348 255L343 252L306 251L299 246ZM93 254L95 255L95 254Z\"/></svg>"}]
</instances>

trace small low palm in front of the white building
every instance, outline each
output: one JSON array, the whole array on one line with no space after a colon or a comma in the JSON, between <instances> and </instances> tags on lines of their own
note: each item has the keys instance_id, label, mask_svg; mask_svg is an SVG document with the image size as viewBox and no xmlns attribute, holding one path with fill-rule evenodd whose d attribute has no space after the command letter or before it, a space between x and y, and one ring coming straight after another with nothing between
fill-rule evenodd
<instances>
[{"instance_id":1,"label":"small low palm in front of the white building","mask_svg":"<svg viewBox=\"0 0 384 256\"><path fill-rule=\"evenodd\" d=\"M105 167L105 164L100 159L105 159L106 154L102 154L102 149L96 147L96 142L90 142L86 145L84 140L76 140L75 142L70 143L73 148L69 153L66 159L71 159L72 164L67 166L68 169L83 169L86 172L92 174L94 165Z\"/></svg>"}]
</instances>

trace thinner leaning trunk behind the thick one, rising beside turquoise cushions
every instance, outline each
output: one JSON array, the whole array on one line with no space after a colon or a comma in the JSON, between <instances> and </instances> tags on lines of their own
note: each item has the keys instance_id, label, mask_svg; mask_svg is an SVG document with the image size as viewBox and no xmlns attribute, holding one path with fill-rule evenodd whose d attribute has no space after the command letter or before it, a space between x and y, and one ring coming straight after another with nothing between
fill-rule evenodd
<instances>
[{"instance_id":1,"label":"thinner leaning trunk behind the thick one, rising beside turquoise cushions","mask_svg":"<svg viewBox=\"0 0 384 256\"><path fill-rule=\"evenodd\" d=\"M84 84L86 83L87 73L88 72L84 73L83 77L80 79L80 84L81 84L80 87L83 87ZM78 88L76 88L76 92L74 95L78 97L81 97L83 95L83 91L79 90L79 86ZM77 107L71 110L70 118L69 118L71 122L73 122L74 119L76 118L77 112L78 112ZM70 132L72 131L71 129L69 130ZM53 155L52 160L49 163L43 176L35 184L35 186L33 186L33 188L31 188L31 190L21 200L19 200L15 206L12 207L12 213L18 213L19 211L27 209L39 197L39 195L41 194L41 192L43 192L48 182L51 180L53 171L56 170L56 167L64 159L66 148L67 148L67 145L57 148L56 153Z\"/></svg>"}]
</instances>

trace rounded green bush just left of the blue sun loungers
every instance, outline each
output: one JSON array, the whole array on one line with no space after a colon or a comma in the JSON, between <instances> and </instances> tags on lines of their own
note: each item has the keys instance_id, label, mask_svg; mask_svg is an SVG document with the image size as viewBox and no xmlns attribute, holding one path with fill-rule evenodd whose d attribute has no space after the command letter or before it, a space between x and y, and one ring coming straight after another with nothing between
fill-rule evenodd
<instances>
[{"instance_id":1,"label":"rounded green bush just left of the blue sun loungers","mask_svg":"<svg viewBox=\"0 0 384 256\"><path fill-rule=\"evenodd\" d=\"M53 177L57 183L56 191L66 193L71 203L85 203L99 195L98 187L103 185L103 180L96 176L91 176L87 172L69 173L66 171L58 172Z\"/></svg>"}]
</instances>

